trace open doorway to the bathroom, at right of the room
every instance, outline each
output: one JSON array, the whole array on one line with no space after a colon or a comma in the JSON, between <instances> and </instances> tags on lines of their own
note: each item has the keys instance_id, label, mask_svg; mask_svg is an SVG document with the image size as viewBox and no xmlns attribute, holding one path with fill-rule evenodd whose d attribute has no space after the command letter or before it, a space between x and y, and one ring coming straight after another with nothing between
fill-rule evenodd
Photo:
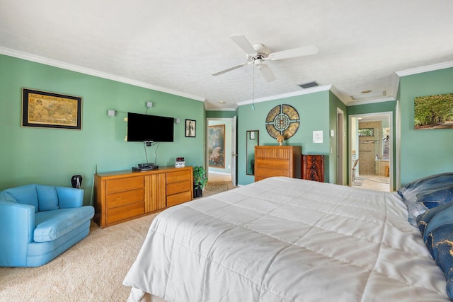
<instances>
[{"instance_id":1,"label":"open doorway to the bathroom, at right of the room","mask_svg":"<svg viewBox=\"0 0 453 302\"><path fill-rule=\"evenodd\" d=\"M350 115L350 185L393 191L393 112Z\"/></svg>"}]
</instances>

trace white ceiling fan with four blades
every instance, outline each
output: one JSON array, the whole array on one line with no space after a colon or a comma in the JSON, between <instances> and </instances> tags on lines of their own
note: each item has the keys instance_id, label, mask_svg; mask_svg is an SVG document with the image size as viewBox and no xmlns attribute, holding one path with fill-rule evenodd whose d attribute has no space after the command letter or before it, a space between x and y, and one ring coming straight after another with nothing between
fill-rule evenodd
<instances>
[{"instance_id":1,"label":"white ceiling fan with four blades","mask_svg":"<svg viewBox=\"0 0 453 302\"><path fill-rule=\"evenodd\" d=\"M249 64L254 64L255 66L258 66L258 70L261 72L264 79L270 82L275 80L275 75L273 74L272 70L270 70L269 66L263 63L266 60L275 61L279 59L289 59L293 57L308 56L311 54L316 54L318 52L318 47L311 45L294 48L292 50L283 50L281 52L270 53L269 48L265 47L263 44L257 43L255 45L251 45L251 43L248 42L247 38L243 35L232 35L230 38L239 47L241 47L244 52L246 52L246 63L218 71L215 74L212 74L212 76L218 76L219 74L224 74L226 72L241 68Z\"/></svg>"}]
</instances>

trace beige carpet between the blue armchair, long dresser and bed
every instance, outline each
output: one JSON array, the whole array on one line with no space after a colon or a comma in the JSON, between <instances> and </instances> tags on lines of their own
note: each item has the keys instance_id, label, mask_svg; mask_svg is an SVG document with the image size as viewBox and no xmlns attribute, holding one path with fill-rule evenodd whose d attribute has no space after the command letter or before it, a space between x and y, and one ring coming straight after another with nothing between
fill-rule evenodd
<instances>
[{"instance_id":1,"label":"beige carpet between the blue armchair, long dresser and bed","mask_svg":"<svg viewBox=\"0 0 453 302\"><path fill-rule=\"evenodd\" d=\"M42 267L0 267L0 301L126 301L122 286L157 214L99 228Z\"/></svg>"}]
</instances>

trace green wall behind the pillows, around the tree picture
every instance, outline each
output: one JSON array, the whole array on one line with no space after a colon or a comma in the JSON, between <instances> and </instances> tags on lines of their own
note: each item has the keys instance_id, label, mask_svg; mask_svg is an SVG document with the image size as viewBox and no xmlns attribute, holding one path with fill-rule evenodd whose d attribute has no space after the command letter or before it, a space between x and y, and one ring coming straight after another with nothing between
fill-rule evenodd
<instances>
[{"instance_id":1,"label":"green wall behind the pillows, around the tree picture","mask_svg":"<svg viewBox=\"0 0 453 302\"><path fill-rule=\"evenodd\" d=\"M453 129L414 129L414 98L453 93L453 68L401 76L401 185L452 172Z\"/></svg>"}]
</instances>

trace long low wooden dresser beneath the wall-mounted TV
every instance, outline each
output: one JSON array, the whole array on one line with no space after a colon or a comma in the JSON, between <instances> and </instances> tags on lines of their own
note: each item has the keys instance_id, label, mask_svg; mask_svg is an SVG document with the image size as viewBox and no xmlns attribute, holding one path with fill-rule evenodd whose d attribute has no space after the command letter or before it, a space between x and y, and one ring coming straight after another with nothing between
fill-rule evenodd
<instances>
[{"instance_id":1,"label":"long low wooden dresser beneath the wall-mounted TV","mask_svg":"<svg viewBox=\"0 0 453 302\"><path fill-rule=\"evenodd\" d=\"M96 174L94 196L94 221L112 226L192 200L193 168Z\"/></svg>"}]
</instances>

